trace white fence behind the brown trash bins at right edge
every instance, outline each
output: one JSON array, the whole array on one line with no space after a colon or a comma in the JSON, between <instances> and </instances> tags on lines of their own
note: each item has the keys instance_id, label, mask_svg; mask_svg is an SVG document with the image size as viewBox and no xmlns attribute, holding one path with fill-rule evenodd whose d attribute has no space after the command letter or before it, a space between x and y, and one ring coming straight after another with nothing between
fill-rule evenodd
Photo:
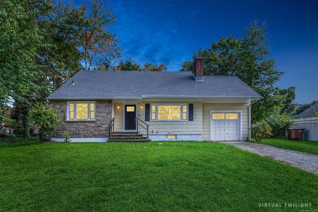
<instances>
[{"instance_id":1,"label":"white fence behind the brown trash bins at right edge","mask_svg":"<svg viewBox=\"0 0 318 212\"><path fill-rule=\"evenodd\" d=\"M303 140L318 141L318 117L308 119L296 119L289 128L305 128Z\"/></svg>"}]
</instances>

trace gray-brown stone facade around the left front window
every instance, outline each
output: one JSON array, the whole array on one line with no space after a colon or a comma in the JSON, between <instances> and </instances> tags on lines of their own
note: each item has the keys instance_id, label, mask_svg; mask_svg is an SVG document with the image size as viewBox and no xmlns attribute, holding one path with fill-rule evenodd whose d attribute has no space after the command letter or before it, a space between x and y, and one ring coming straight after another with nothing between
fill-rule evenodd
<instances>
[{"instance_id":1,"label":"gray-brown stone facade around the left front window","mask_svg":"<svg viewBox=\"0 0 318 212\"><path fill-rule=\"evenodd\" d=\"M87 101L81 99L50 100L53 107L59 106L61 127L52 133L52 138L63 138L64 132L71 132L72 138L106 138L108 137L108 125L113 119L113 101L107 99L90 99L95 101L95 120L68 121L67 101Z\"/></svg>"}]
</instances>

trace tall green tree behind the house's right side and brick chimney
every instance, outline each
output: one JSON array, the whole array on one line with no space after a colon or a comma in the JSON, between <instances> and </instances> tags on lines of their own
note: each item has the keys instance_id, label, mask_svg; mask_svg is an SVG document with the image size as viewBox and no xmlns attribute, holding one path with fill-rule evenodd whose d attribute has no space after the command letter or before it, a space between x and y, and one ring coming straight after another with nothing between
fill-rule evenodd
<instances>
[{"instance_id":1,"label":"tall green tree behind the house's right side and brick chimney","mask_svg":"<svg viewBox=\"0 0 318 212\"><path fill-rule=\"evenodd\" d=\"M245 29L241 39L221 37L211 48L194 52L204 58L204 75L237 76L251 86L263 98L252 105L252 121L263 120L274 106L283 107L286 97L280 95L275 83L284 72L280 72L271 58L271 45L266 22L255 20ZM180 71L191 71L192 62L186 61Z\"/></svg>"}]
</instances>

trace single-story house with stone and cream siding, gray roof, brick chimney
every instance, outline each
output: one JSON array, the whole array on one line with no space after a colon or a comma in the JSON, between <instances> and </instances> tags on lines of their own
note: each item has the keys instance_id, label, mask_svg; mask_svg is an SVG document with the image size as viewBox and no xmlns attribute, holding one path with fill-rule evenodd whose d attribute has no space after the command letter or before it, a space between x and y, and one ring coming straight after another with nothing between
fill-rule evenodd
<instances>
[{"instance_id":1,"label":"single-story house with stone and cream siding, gray roof, brick chimney","mask_svg":"<svg viewBox=\"0 0 318 212\"><path fill-rule=\"evenodd\" d=\"M136 132L135 117L152 140L245 140L259 98L237 77L203 76L200 56L193 73L80 71L47 97L63 117L52 140L71 132L72 141L96 142L108 140L113 119L114 131Z\"/></svg>"}]
</instances>

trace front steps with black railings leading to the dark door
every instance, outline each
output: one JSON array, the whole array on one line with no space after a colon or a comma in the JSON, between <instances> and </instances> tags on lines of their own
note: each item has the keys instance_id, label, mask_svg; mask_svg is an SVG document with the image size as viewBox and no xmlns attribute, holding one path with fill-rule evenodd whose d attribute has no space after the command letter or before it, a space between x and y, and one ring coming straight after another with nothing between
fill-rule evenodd
<instances>
[{"instance_id":1,"label":"front steps with black railings leading to the dark door","mask_svg":"<svg viewBox=\"0 0 318 212\"><path fill-rule=\"evenodd\" d=\"M111 132L107 142L135 142L145 143L150 142L151 139L140 134L140 132Z\"/></svg>"}]
</instances>

